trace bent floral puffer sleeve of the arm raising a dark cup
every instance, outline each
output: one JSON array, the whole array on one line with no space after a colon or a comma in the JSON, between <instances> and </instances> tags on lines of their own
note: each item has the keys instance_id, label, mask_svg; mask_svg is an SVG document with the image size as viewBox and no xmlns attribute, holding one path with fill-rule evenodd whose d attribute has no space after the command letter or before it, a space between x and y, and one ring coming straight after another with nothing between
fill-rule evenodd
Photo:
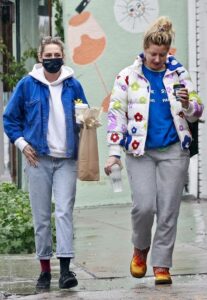
<instances>
[{"instance_id":1,"label":"bent floral puffer sleeve of the arm raising a dark cup","mask_svg":"<svg viewBox=\"0 0 207 300\"><path fill-rule=\"evenodd\" d=\"M183 109L183 113L185 115L185 118L190 123L196 122L201 117L204 106L200 97L194 89L194 85L187 70L181 67L180 70L178 70L178 74L180 83L183 83L188 89L190 100L188 109Z\"/></svg>"}]
</instances>

